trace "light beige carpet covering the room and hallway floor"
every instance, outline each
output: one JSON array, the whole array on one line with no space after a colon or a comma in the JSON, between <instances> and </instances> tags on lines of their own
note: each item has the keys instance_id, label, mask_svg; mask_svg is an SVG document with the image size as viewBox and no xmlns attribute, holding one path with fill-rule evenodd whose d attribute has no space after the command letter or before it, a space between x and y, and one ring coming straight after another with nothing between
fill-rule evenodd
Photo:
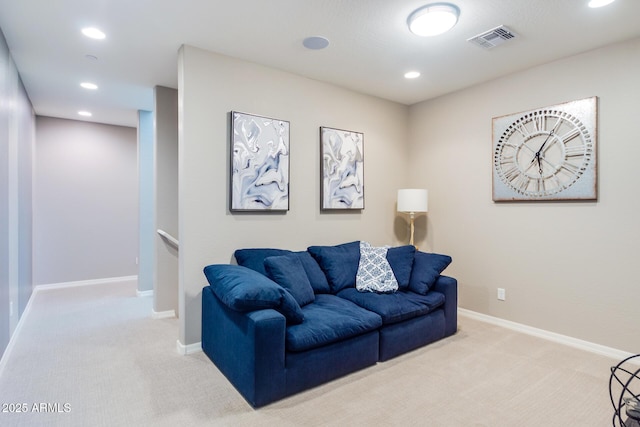
<instances>
[{"instance_id":1,"label":"light beige carpet covering the room and hallway floor","mask_svg":"<svg viewBox=\"0 0 640 427\"><path fill-rule=\"evenodd\" d=\"M176 352L134 283L36 293L0 373L8 426L610 426L610 367L465 317L448 339L259 410L204 353ZM44 403L44 406L40 404ZM35 412L47 409L55 412ZM46 404L49 404L48 406ZM3 409L6 409L3 408Z\"/></svg>"}]
</instances>

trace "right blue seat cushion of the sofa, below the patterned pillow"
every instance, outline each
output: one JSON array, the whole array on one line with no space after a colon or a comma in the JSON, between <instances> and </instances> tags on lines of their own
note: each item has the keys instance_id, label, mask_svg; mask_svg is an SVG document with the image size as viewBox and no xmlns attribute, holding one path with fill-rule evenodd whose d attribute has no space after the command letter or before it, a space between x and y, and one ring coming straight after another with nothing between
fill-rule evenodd
<instances>
[{"instance_id":1,"label":"right blue seat cushion of the sofa, below the patterned pillow","mask_svg":"<svg viewBox=\"0 0 640 427\"><path fill-rule=\"evenodd\" d=\"M428 314L444 304L444 295L440 292L426 295L411 291L380 294L349 288L340 291L338 296L379 314L385 325Z\"/></svg>"}]
</instances>

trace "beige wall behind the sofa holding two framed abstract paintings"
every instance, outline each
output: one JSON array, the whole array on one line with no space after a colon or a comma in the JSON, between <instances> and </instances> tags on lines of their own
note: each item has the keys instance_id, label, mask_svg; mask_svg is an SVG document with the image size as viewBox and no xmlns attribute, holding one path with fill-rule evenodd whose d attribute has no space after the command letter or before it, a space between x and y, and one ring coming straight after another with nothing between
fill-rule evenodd
<instances>
[{"instance_id":1,"label":"beige wall behind the sofa holding two framed abstract paintings","mask_svg":"<svg viewBox=\"0 0 640 427\"><path fill-rule=\"evenodd\" d=\"M182 344L200 341L202 269L231 262L235 249L397 243L395 199L408 173L408 107L190 46L180 51L178 84ZM290 121L286 214L229 212L232 110ZM320 126L364 133L362 212L320 212Z\"/></svg>"}]
</instances>

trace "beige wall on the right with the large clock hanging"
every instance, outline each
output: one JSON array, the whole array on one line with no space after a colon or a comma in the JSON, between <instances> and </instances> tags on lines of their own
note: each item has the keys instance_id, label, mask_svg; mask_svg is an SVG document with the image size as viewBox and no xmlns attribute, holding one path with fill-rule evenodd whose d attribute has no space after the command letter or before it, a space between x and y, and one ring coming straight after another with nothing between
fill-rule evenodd
<instances>
[{"instance_id":1,"label":"beige wall on the right with the large clock hanging","mask_svg":"<svg viewBox=\"0 0 640 427\"><path fill-rule=\"evenodd\" d=\"M453 256L461 307L638 352L638 76L635 39L411 108L409 169L429 189L424 244ZM492 118L591 96L598 201L492 202Z\"/></svg>"}]
</instances>

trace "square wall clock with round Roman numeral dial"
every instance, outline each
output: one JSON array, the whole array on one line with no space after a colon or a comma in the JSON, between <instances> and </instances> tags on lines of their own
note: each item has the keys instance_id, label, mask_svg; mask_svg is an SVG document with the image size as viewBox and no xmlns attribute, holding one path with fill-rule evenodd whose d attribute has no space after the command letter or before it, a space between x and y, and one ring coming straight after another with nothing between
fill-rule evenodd
<instances>
[{"instance_id":1,"label":"square wall clock with round Roman numeral dial","mask_svg":"<svg viewBox=\"0 0 640 427\"><path fill-rule=\"evenodd\" d=\"M595 200L597 98L493 119L493 200Z\"/></svg>"}]
</instances>

